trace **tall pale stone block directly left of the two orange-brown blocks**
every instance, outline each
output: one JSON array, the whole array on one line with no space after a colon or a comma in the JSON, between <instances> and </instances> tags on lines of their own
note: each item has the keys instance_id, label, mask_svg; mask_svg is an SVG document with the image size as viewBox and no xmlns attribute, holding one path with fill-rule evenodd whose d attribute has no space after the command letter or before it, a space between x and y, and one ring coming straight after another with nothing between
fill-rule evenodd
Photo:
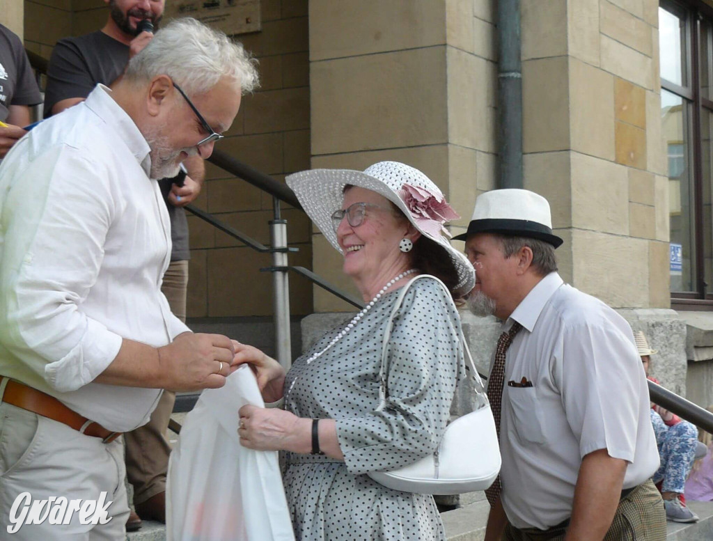
<instances>
[{"instance_id":1,"label":"tall pale stone block directly left of the two orange-brown blocks","mask_svg":"<svg viewBox=\"0 0 713 541\"><path fill-rule=\"evenodd\" d=\"M614 81L610 73L570 60L570 148L614 160Z\"/></svg>"}]
</instances>

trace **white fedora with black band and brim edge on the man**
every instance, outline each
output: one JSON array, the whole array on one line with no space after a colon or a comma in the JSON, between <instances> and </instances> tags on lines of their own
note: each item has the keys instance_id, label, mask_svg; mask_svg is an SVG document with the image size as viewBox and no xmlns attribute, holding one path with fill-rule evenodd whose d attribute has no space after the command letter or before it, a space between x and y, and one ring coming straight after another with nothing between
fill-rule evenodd
<instances>
[{"instance_id":1,"label":"white fedora with black band and brim edge on the man","mask_svg":"<svg viewBox=\"0 0 713 541\"><path fill-rule=\"evenodd\" d=\"M453 237L467 240L475 233L499 233L543 240L555 248L562 239L552 232L552 216L547 200L530 190L505 188L478 196L468 231Z\"/></svg>"}]
</instances>

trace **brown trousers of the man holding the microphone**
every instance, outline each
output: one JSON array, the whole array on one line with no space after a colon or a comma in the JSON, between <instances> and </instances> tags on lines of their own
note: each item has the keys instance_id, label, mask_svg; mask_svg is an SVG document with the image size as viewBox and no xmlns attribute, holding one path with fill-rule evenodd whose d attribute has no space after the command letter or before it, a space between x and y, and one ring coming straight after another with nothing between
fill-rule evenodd
<instances>
[{"instance_id":1,"label":"brown trousers of the man holding the microphone","mask_svg":"<svg viewBox=\"0 0 713 541\"><path fill-rule=\"evenodd\" d=\"M161 292L178 319L185 321L188 291L188 261L173 261L163 275ZM144 426L124 434L126 442L126 477L133 485L133 503L143 503L166 490L168 455L171 448L165 439L173 411L175 393L163 391L151 418Z\"/></svg>"}]
</instances>

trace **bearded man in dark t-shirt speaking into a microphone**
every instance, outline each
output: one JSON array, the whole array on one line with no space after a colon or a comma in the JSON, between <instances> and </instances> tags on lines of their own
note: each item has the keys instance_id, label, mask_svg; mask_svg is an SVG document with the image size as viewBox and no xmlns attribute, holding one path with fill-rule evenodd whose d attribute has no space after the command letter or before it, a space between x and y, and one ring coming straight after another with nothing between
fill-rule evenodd
<instances>
[{"instance_id":1,"label":"bearded man in dark t-shirt speaking into a microphone","mask_svg":"<svg viewBox=\"0 0 713 541\"><path fill-rule=\"evenodd\" d=\"M152 31L138 31L140 21L150 21L157 31L164 0L106 0L109 14L99 31L63 38L52 51L48 68L45 117L56 115L83 101L97 83L111 86L123 76L130 58L150 43ZM161 291L173 314L185 321L188 289L188 221L184 205L193 202L205 177L200 156L186 158L188 176L183 182L159 181L170 217L171 262L163 275ZM183 175L181 175L183 176ZM134 487L134 505L139 517L165 522L165 479L170 447L165 431L173 411L175 394L167 391L145 426L125 435L126 471ZM128 529L140 527L132 513Z\"/></svg>"}]
</instances>

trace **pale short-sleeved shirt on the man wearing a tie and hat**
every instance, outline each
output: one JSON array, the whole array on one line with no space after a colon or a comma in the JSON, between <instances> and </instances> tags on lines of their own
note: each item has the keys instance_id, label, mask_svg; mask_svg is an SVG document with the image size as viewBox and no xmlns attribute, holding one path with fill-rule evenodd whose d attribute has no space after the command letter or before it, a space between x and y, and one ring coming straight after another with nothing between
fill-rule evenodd
<instances>
[{"instance_id":1,"label":"pale short-sleeved shirt on the man wearing a tie and hat","mask_svg":"<svg viewBox=\"0 0 713 541\"><path fill-rule=\"evenodd\" d=\"M571 516L588 453L626 460L624 488L650 478L659 455L646 376L622 316L553 272L503 330L513 320L523 329L506 355L501 499L515 527L545 530ZM523 378L532 386L520 386Z\"/></svg>"}]
</instances>

